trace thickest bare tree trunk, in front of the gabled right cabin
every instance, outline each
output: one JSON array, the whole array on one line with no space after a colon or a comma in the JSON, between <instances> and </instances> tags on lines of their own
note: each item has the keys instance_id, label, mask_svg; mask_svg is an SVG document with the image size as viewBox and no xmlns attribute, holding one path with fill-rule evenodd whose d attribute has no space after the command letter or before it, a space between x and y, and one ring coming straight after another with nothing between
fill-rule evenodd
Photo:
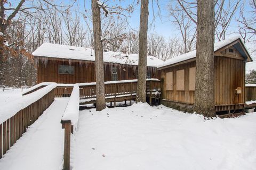
<instances>
[{"instance_id":1,"label":"thickest bare tree trunk, in front of the gabled right cabin","mask_svg":"<svg viewBox=\"0 0 256 170\"><path fill-rule=\"evenodd\" d=\"M195 112L214 117L214 1L197 1Z\"/></svg>"}]
</instances>

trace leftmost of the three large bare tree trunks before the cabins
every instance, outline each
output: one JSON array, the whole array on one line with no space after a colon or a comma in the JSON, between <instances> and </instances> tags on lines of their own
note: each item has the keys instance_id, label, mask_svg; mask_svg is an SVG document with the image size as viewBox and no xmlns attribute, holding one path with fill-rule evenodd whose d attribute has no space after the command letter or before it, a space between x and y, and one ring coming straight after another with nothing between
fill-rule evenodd
<instances>
[{"instance_id":1,"label":"leftmost of the three large bare tree trunks before the cabins","mask_svg":"<svg viewBox=\"0 0 256 170\"><path fill-rule=\"evenodd\" d=\"M93 18L93 38L95 54L95 72L96 72L96 111L106 108L105 103L105 84L104 84L104 66L103 49L101 41L101 21L100 7L97 0L92 0L92 18Z\"/></svg>"}]
</instances>

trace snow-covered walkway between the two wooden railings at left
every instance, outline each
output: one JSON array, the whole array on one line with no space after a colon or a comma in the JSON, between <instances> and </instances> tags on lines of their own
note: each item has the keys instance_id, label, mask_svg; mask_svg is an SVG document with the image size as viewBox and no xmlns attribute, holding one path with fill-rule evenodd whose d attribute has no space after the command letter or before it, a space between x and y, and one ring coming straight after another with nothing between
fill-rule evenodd
<instances>
[{"instance_id":1,"label":"snow-covered walkway between the two wooden railings at left","mask_svg":"<svg viewBox=\"0 0 256 170\"><path fill-rule=\"evenodd\" d=\"M0 159L2 170L60 169L63 157L61 117L68 99L55 98L38 120Z\"/></svg>"}]
</instances>

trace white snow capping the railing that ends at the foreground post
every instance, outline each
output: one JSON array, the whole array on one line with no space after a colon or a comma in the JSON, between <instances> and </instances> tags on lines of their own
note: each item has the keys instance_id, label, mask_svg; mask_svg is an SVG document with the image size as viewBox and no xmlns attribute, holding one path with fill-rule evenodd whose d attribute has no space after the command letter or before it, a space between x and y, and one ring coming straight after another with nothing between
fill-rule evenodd
<instances>
[{"instance_id":1,"label":"white snow capping the railing that ends at the foreground post","mask_svg":"<svg viewBox=\"0 0 256 170\"><path fill-rule=\"evenodd\" d=\"M71 121L71 125L74 125L76 128L78 116L79 116L79 86L78 84L74 85L72 93L70 95L68 105L65 109L65 112L61 118L62 121Z\"/></svg>"}]
</instances>

